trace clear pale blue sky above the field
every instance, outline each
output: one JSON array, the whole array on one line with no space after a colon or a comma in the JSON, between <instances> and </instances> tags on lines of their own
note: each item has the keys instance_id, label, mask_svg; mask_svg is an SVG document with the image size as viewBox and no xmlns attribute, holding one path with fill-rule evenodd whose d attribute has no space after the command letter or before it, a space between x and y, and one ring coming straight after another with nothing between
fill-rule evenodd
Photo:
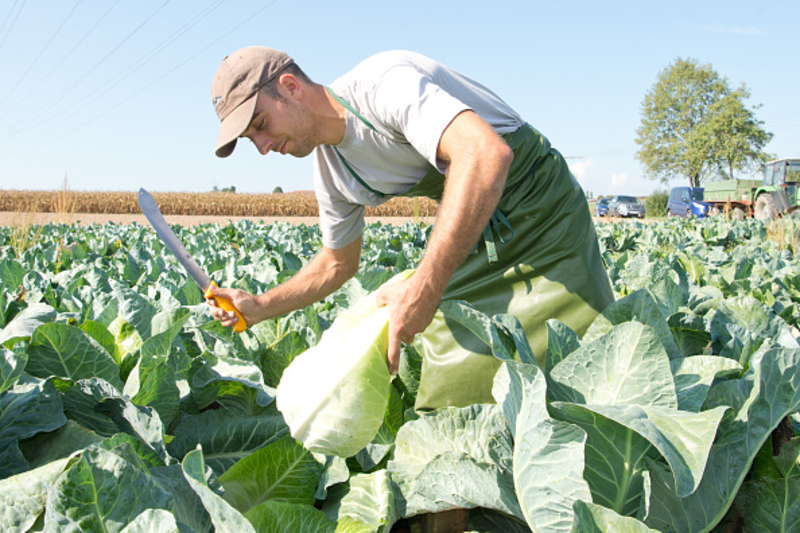
<instances>
[{"instance_id":1,"label":"clear pale blue sky above the field","mask_svg":"<svg viewBox=\"0 0 800 533\"><path fill-rule=\"evenodd\" d=\"M310 190L310 157L213 154L211 78L258 44L321 83L382 50L426 54L510 103L587 191L647 195L665 186L635 158L641 105L678 57L746 84L767 150L800 157L798 20L796 0L4 0L0 190Z\"/></svg>"}]
</instances>

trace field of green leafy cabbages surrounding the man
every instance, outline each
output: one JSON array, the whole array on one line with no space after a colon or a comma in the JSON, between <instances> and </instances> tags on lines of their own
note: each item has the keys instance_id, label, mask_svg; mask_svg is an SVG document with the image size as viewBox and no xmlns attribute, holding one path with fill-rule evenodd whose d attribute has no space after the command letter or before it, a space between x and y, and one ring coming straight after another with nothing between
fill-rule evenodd
<instances>
[{"instance_id":1,"label":"field of green leafy cabbages surrounding the man","mask_svg":"<svg viewBox=\"0 0 800 533\"><path fill-rule=\"evenodd\" d=\"M253 292L321 246L318 226L174 229ZM582 338L551 320L533 354L514 317L443 303L503 361L496 402L415 412L407 346L343 458L292 438L278 384L429 226L369 225L353 280L242 334L149 227L0 228L0 530L414 531L452 508L485 532L800 530L800 222L597 231L617 301Z\"/></svg>"}]
</instances>

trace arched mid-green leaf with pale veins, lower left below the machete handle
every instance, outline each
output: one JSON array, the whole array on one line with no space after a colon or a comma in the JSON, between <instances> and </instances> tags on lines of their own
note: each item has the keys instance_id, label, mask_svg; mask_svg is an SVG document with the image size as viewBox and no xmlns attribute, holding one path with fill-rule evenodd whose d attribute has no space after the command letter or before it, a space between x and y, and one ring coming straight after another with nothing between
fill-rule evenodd
<instances>
[{"instance_id":1,"label":"arched mid-green leaf with pale veins, lower left below the machete handle","mask_svg":"<svg viewBox=\"0 0 800 533\"><path fill-rule=\"evenodd\" d=\"M119 367L105 348L79 328L67 324L43 324L36 328L28 348L25 371L42 379L98 377L122 390Z\"/></svg>"}]
</instances>

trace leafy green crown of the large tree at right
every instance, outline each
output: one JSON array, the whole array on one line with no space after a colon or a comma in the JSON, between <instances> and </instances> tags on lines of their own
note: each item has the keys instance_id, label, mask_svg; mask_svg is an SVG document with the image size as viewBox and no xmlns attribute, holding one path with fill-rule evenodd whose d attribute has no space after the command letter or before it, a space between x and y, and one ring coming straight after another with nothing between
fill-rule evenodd
<instances>
[{"instance_id":1,"label":"leafy green crown of the large tree at right","mask_svg":"<svg viewBox=\"0 0 800 533\"><path fill-rule=\"evenodd\" d=\"M676 59L659 73L642 104L636 157L644 177L667 184L682 175L699 187L721 173L723 161L729 176L760 163L771 134L744 106L749 96L744 85L732 91L710 64Z\"/></svg>"}]
</instances>

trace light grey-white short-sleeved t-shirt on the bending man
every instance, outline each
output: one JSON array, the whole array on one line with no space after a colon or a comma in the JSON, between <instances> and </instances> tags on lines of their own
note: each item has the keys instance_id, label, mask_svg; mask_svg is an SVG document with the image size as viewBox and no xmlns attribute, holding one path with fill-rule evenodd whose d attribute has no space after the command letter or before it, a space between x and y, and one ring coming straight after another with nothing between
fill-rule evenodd
<instances>
[{"instance_id":1,"label":"light grey-white short-sleeved t-shirt on the bending man","mask_svg":"<svg viewBox=\"0 0 800 533\"><path fill-rule=\"evenodd\" d=\"M336 148L365 183L387 195L406 192L431 165L446 171L436 151L442 133L462 111L471 109L500 135L523 124L486 87L413 52L376 54L330 88L377 130L348 110L344 138ZM386 201L360 184L330 145L314 152L314 189L322 241L329 248L342 248L358 238L364 229L364 206Z\"/></svg>"}]
</instances>

